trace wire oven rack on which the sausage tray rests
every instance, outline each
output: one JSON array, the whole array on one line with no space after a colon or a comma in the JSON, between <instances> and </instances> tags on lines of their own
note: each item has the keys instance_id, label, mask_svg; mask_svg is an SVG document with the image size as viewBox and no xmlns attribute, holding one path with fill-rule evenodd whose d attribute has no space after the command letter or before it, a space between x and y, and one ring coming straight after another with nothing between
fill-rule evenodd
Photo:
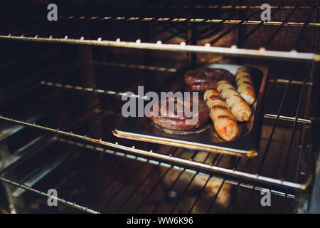
<instances>
[{"instance_id":1,"label":"wire oven rack on which the sausage tray rests","mask_svg":"<svg viewBox=\"0 0 320 228\"><path fill-rule=\"evenodd\" d=\"M136 67L136 66L131 66L128 64L122 64L122 63L110 63L110 64L102 64L101 62L96 62L96 61L90 61L90 66L93 64L95 65L95 63L100 64L100 65L109 65L112 67ZM85 67L82 65L82 67ZM139 67L137 68L137 70L141 70ZM71 69L71 68L70 68ZM149 70L149 71L157 71L157 69L161 69L161 72L164 72L164 68L159 68L159 67L154 67L154 66L144 66L142 68L143 70ZM169 68L170 71L174 71L174 68ZM72 71L72 70L70 70ZM168 73L171 73L171 72ZM70 75L70 72L64 72L64 74L68 74ZM89 78L92 77L92 72L88 73L87 75ZM169 77L171 78L171 77ZM165 81L167 81L167 79L165 79ZM73 81L75 81L75 79L73 79ZM278 83L279 82L279 83ZM294 81L294 83L292 83L292 81L285 81L285 80L281 80L279 78L273 80L272 85L277 84L277 85L284 85L285 86L285 90L284 90L284 94L282 97L282 102L279 105L279 110L276 114L265 114L265 120L271 120L274 121L271 124L273 125L273 130L271 132L271 134L265 138L264 140L267 141L267 147L265 149L265 151L262 153L263 155L263 159L260 161L260 168L258 170L255 170L253 172L247 172L246 171L246 167L249 165L250 167L250 160L245 160L242 159L242 163L245 162L245 167L242 170L237 169L237 166L230 166L230 167L221 167L219 165L219 162L216 163L216 159L213 157L211 162L200 162L198 160L195 160L195 157L199 154L199 152L197 150L191 150L193 153L193 156L191 156L191 158L183 158L183 157L175 157L174 155L164 155L161 153L161 151L153 151L153 150L146 150L146 149L138 149L139 147L145 147L145 145L139 145L139 142L135 142L136 145L134 146L130 146L128 144L132 143L132 142L126 142L125 140L121 140L121 139L114 139L114 138L110 138L108 140L102 140L102 138L95 138L92 137L90 135L94 134L95 132L97 132L98 128L103 127L101 124L97 125L93 130L90 131L90 133L87 134L79 134L79 133L75 133L77 132L77 129L80 128L82 125L85 125L87 122L91 122L96 120L99 115L103 115L105 113L105 110L99 110L98 113L93 113L95 115L93 115L92 113L87 113L86 115L83 115L82 117L80 117L75 123L68 123L68 121L66 123L61 123L60 126L58 125L58 127L50 127L47 125L39 125L38 121L36 120L37 123L34 122L30 122L28 121L28 118L25 119L17 119L17 118L11 118L8 117L6 115L3 115L3 113L1 113L2 115L0 115L0 119L1 120L6 120L9 121L11 123L16 123L18 125L25 125L27 127L31 127L31 128L36 128L39 130L43 130L46 132L50 132L50 133L55 133L58 135L63 135L63 136L67 136L70 138L73 138L75 140L80 140L82 142L88 142L88 143L94 143L96 145L102 145L103 147L110 147L110 148L114 148L115 150L122 150L122 151L126 151L131 153L132 155L138 155L139 157L149 157L151 159L154 160L161 160L163 162L167 162L169 164L176 164L176 165L181 165L183 167L188 167L190 169L193 170L199 170L199 172L209 172L209 173L215 173L217 175L223 175L223 176L228 176L231 179L232 178L242 178L242 180L244 181L249 181L249 182L259 182L259 185L277 185L278 187L288 187L288 188L293 188L293 189L299 189L299 190L305 190L306 187L309 186L309 183L311 181L311 172L306 172L306 179L305 182L292 182L289 180L284 180L282 178L275 178L275 176L272 175L261 175L261 171L262 171L262 166L265 165L265 162L268 160L267 158L267 152L268 150L270 150L270 143L272 142L272 135L274 133L274 130L277 128L277 125L279 123L279 120L284 120L284 122L289 123L290 125L292 124L292 136L291 139L288 140L288 142L283 142L283 143L289 143L290 147L288 150L288 155L290 154L291 150L296 149L299 151L294 150L295 152L292 152L292 156L301 156L304 153L306 153L307 155L311 155L311 149L312 147L310 145L299 145L296 144L296 142L294 142L294 131L297 128L297 125L303 125L303 128L308 128L308 125L311 124L311 120L308 120L306 118L299 118L299 109L302 105L302 95L304 95L304 93L306 93L306 86L310 86L307 85L306 81L303 82L298 82L298 81ZM114 97L115 99L117 97L119 97L119 95L121 95L121 93L115 92L115 91L110 91L110 90L104 90L101 88L96 88L95 86L89 86L89 87L85 87L85 86L76 86L71 83L63 83L63 82L53 82L52 79L50 78L43 78L42 80L39 81L38 86L43 87L43 86L47 86L53 90L60 90L60 91L69 91L72 93L82 93L82 94L87 94L87 100L85 101L85 103L90 104L90 105L94 105L95 103L91 103L91 101L95 100L95 98L97 98L97 95L99 94L105 94L107 96L111 96ZM281 115L281 110L282 107L284 105L284 99L286 98L286 95L288 93L289 87L290 86L302 86L302 92L300 95L300 99L299 99L299 103L297 103L297 115L294 117L290 117L290 116L283 116ZM34 103L38 103L39 101L36 101ZM30 104L33 104L32 101L29 102ZM46 103L46 102L45 102ZM26 104L27 105L27 104ZM96 105L95 105L96 106ZM93 107L95 107L93 106ZM32 107L32 105L31 105ZM32 111L33 108L29 107L28 109L30 109ZM45 110L45 105L43 105L43 110L42 112ZM60 110L59 108L63 108L63 107L59 107L58 105L58 110ZM91 110L93 110L93 108L90 108ZM53 110L54 111L54 110ZM52 111L52 112L53 112ZM51 115L53 115L53 113L51 112ZM55 112L57 112L57 110L55 110ZM113 113L108 120L105 120L106 123L113 123L115 119L119 118L119 112L121 113L121 110L117 110L115 113ZM17 113L18 114L18 113ZM33 115L31 113L31 115ZM93 115L93 116L91 116ZM63 118L63 116L60 116L59 119ZM49 119L50 121L53 121L51 119ZM50 121L42 121L43 123L46 124L50 124ZM110 122L111 121L111 122ZM118 123L117 121L114 123ZM72 124L74 125L71 128L59 128L61 126L64 125L68 125L68 124ZM61 129L65 129L65 130L61 130ZM67 130L68 129L68 130ZM114 127L110 127L110 133L111 130L113 130ZM97 133L95 133L95 135L99 135ZM100 135L101 137L102 135ZM114 142L112 142L114 140ZM263 140L263 139L262 139ZM120 143L119 143L119 142ZM68 141L65 141L68 142ZM302 143L307 143L307 142L302 142ZM123 145L122 145L123 144ZM292 147L293 146L293 147ZM303 150L308 150L308 152L303 152ZM186 150L186 152L191 152L189 150ZM212 154L213 156L213 154ZM289 156L290 158L290 156ZM223 155L221 155L220 159L223 159ZM282 160L284 160L285 157L282 157ZM288 157L287 157L288 159ZM298 159L298 157L296 158ZM298 160L299 161L299 160ZM309 160L307 160L309 162ZM240 162L240 160L239 160ZM256 161L258 162L258 161ZM287 160L287 162L284 163L284 165L286 165L286 167L288 167L289 165L289 160ZM251 162L254 163L254 162ZM243 164L242 164L243 165ZM279 163L278 163L279 166ZM308 166L309 167L309 166ZM297 167L296 167L297 168ZM297 172L294 171L294 172Z\"/></svg>"}]
</instances>

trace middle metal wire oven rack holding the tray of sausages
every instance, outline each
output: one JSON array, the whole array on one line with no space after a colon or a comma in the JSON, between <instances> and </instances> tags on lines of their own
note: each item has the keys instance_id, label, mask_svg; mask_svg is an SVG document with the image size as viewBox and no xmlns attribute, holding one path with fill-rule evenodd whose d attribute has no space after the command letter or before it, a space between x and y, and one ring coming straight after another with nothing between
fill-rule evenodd
<instances>
[{"instance_id":1,"label":"middle metal wire oven rack holding the tray of sausages","mask_svg":"<svg viewBox=\"0 0 320 228\"><path fill-rule=\"evenodd\" d=\"M114 64L112 64L112 65L114 65ZM144 67L144 69L145 68L149 69L149 67ZM152 68L152 69L154 69L154 68ZM275 82L276 81L274 81L274 83ZM93 88L93 87L87 88L87 87L82 87L82 86L71 86L70 84L52 83L52 82L48 82L48 81L41 81L39 84L40 84L39 86L49 86L50 88L59 89L62 91L73 89L71 92L76 93L78 91L79 93L85 93L86 97L88 98L87 100L85 100L85 103L90 104L91 110L98 105L95 103L91 104L91 100L94 100L94 98L97 97L97 95L99 95L99 94L107 95L108 97L110 95L112 97L113 96L117 97L117 96L122 95L122 93L117 93L115 91L110 91L110 90L103 90L101 88ZM282 83L280 85L282 85ZM139 149L139 143L134 146L129 146L128 142L125 142L125 140L123 142L124 145L121 145L118 141L121 142L123 140L114 139L112 137L112 135L109 135L109 134L105 135L105 137L107 137L106 140L102 140L102 138L101 138L102 135L95 134L95 130L97 130L98 128L101 128L103 126L102 123L100 123L100 125L99 124L96 125L94 130L91 130L89 133L88 132L87 133L76 133L77 131L79 132L79 129L81 129L81 127L83 125L87 125L87 123L89 123L90 121L94 121L100 115L103 115L105 113L105 110L103 110L103 109L99 110L97 113L86 113L85 115L80 117L78 120L75 120L74 124L68 123L68 121L67 121L66 125L71 125L71 128L65 128L64 127L65 124L63 124L63 123L62 124L60 123L60 125L58 125L57 127L50 127L49 126L50 123L46 120L42 120L42 122L46 123L46 125L40 125L38 123L29 123L28 121L25 121L25 120L19 120L21 118L7 117L6 115L0 115L0 119L7 120L11 123L17 123L18 125L25 125L25 126L28 126L31 128L44 130L46 132L55 133L55 134L59 134L59 135L63 135L63 136L68 136L68 137L74 138L75 140L82 140L85 142L94 142L97 145L102 145L102 146L111 147L111 148L114 148L117 150L127 151L127 152L134 154L134 155L139 155L139 157L151 157L152 159L162 160L164 162L168 162L169 164L183 165L185 167L190 167L190 168L193 168L196 170L197 169L202 170L202 172L215 172L215 173L219 173L222 175L227 175L228 177L242 178L244 180L251 180L254 182L260 182L262 184L270 184L270 185L276 185L276 186L282 186L282 187L289 187L289 188L293 188L293 189L305 190L306 187L308 187L309 183L311 182L311 172L307 173L307 177L304 180L304 182L292 182L292 180L290 181L290 178L288 178L287 180L282 179L282 178L274 178L277 171L273 175L261 175L261 172L263 170L262 169L263 165L265 165L265 160L266 160L265 157L267 157L267 152L268 152L268 150L270 150L270 143L272 142L272 136L274 134L274 130L277 128L277 125L279 124L279 120L286 120L287 123L293 123L294 126L296 126L297 123L306 124L306 125L311 123L311 120L299 118L298 115L296 115L294 117L288 117L288 116L281 117L280 114L282 111L282 107L284 105L284 100L285 100L287 92L289 90L289 86L291 85L290 81L287 81L287 83L285 83L284 85L286 85L286 87L285 87L286 89L284 90L282 102L279 104L278 112L276 114L265 114L265 117L267 119L269 119L269 118L271 120L274 119L275 123L273 123L271 135L266 138L267 139L267 147L265 148L265 151L262 152L263 158L260 161L259 169L252 170L252 172L247 172L245 169L238 170L232 166L221 167L218 165L214 165L214 162L201 162L201 161L194 160L194 159L189 160L189 159L184 159L182 157L175 157L174 155L165 155L161 151ZM296 84L296 86L303 86L303 85ZM305 93L305 91L302 90L300 98L302 98L302 94L304 94L304 93ZM63 95L61 93L59 93L59 95L61 97L63 97ZM137 97L138 97L138 95L137 95ZM31 101L31 103L32 103L32 101ZM44 103L48 103L48 100L45 100ZM299 103L297 103L297 112L298 113L299 113L300 106L301 106L301 99L299 100ZM43 109L43 107L45 107L45 106L41 105L41 107L42 107L41 109ZM80 107L75 108L75 110L73 110L72 113L76 113L77 110L80 110ZM117 120L116 123L119 123L118 121L121 120L121 118L119 118L119 116L120 116L119 111L120 110L117 110L115 113L112 113L112 115L109 117L110 119ZM58 110L58 112L59 112L59 110ZM50 115L54 115L52 110L50 110ZM60 118L61 118L61 116L60 116ZM58 119L60 119L60 118L58 118ZM51 122L53 122L53 120L51 120ZM109 133L111 133L111 131L113 130L114 127L115 127L115 125L108 126ZM65 130L63 130L63 128ZM296 128L296 127L294 127L294 128ZM80 130L80 132L81 132L81 130ZM97 135L98 138L90 136L91 134ZM110 140L111 140L111 142L110 142ZM293 145L293 143L294 143L294 141L293 141L293 136L292 136L292 139L289 140L289 145ZM306 147L306 145L302 145L302 147ZM291 152L291 150L292 150L292 148L289 147L288 153ZM193 152L193 154L195 156L197 155L197 153L198 153L197 151ZM294 152L294 155L296 155L296 152ZM280 159L280 160L283 160L283 159ZM247 160L247 162L250 162L250 160ZM286 163L288 163L288 161ZM277 166L279 166L279 164Z\"/></svg>"}]
</instances>

